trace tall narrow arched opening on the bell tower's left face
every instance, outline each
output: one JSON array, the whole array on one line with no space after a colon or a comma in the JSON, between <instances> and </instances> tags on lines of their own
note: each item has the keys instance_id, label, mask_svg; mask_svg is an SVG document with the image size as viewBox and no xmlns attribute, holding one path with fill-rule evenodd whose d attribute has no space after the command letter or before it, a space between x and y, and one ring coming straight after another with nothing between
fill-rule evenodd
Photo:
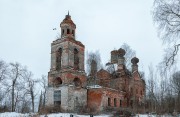
<instances>
[{"instance_id":1,"label":"tall narrow arched opening on the bell tower's left face","mask_svg":"<svg viewBox=\"0 0 180 117\"><path fill-rule=\"evenodd\" d=\"M59 48L56 52L56 69L61 69L61 59L62 59L62 48Z\"/></svg>"}]
</instances>

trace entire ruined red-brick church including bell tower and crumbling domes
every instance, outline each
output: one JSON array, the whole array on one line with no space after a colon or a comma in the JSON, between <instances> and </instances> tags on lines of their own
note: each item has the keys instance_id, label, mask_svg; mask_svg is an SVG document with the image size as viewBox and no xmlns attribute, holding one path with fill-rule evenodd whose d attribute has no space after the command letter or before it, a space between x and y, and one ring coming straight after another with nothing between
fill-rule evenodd
<instances>
[{"instance_id":1,"label":"entire ruined red-brick church including bell tower and crumbling domes","mask_svg":"<svg viewBox=\"0 0 180 117\"><path fill-rule=\"evenodd\" d=\"M60 107L67 112L83 108L102 112L143 105L145 82L138 71L138 58L131 59L132 70L128 70L124 64L125 50L113 50L110 63L116 66L115 72L101 69L87 76L85 46L76 39L76 25L69 13L60 28L61 37L51 43L46 106Z\"/></svg>"}]
</instances>

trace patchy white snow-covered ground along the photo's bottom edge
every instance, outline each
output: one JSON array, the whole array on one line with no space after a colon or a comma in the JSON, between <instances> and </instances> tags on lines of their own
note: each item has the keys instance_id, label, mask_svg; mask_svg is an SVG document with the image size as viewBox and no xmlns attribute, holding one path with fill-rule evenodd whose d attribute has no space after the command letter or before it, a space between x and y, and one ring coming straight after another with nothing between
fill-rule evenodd
<instances>
[{"instance_id":1,"label":"patchy white snow-covered ground along the photo's bottom edge","mask_svg":"<svg viewBox=\"0 0 180 117\"><path fill-rule=\"evenodd\" d=\"M6 112L6 113L0 113L0 117L32 117L31 114L21 114L16 112ZM48 117L70 117L71 113L57 113L57 114L48 114ZM90 117L90 115L77 115L72 114L73 117ZM40 115L36 117L45 117L45 115ZM111 117L110 115L98 115L94 117ZM170 115L164 115L164 116L157 116L157 115L136 115L136 117L173 117ZM180 117L180 115L176 116Z\"/></svg>"}]
</instances>

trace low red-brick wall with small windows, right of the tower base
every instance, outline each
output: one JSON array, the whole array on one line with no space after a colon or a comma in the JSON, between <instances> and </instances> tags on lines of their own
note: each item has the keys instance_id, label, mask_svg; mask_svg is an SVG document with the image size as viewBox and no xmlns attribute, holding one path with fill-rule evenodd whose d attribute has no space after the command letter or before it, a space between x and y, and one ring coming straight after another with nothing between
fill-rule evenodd
<instances>
[{"instance_id":1,"label":"low red-brick wall with small windows, right of the tower base","mask_svg":"<svg viewBox=\"0 0 180 117\"><path fill-rule=\"evenodd\" d=\"M91 111L103 111L106 109L118 110L127 106L124 99L125 93L111 88L91 88L88 89L88 107ZM108 98L110 104L108 104ZM116 101L114 101L114 99ZM122 101L120 105L120 100ZM95 109L95 110L94 110Z\"/></svg>"}]
</instances>

